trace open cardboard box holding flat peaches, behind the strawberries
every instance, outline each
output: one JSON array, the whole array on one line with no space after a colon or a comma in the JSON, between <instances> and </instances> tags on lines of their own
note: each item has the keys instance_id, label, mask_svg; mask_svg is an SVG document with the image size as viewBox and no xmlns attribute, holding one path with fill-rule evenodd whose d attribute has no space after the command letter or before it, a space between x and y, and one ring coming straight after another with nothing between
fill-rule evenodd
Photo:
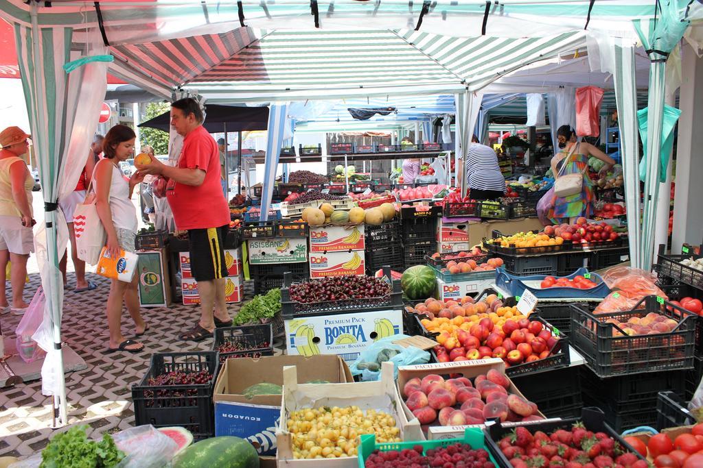
<instances>
[{"instance_id":1,"label":"open cardboard box holding flat peaches, behind the strawberries","mask_svg":"<svg viewBox=\"0 0 703 468\"><path fill-rule=\"evenodd\" d=\"M402 394L403 387L408 380L411 380L414 377L420 377L420 379L422 379L425 375L438 374L447 378L449 377L449 374L461 374L468 379L472 379L477 375L487 373L491 369L496 369L498 372L505 374L505 363L503 362L503 359L491 358L477 359L476 361L457 361L447 363L419 364L418 366L401 366L398 368L396 392L398 392L399 399L401 399L400 396ZM508 387L508 394L523 396L512 381L510 382L510 387ZM401 417L401 425L404 429L404 435L406 437L404 440L424 441L426 439L453 439L463 436L464 430L467 427L484 426L484 424L472 426L431 425L427 428L427 436L425 436L422 428L420 427L420 422L413 415L413 412L406 406L404 401L401 401L401 406L399 408L401 408L401 410L399 410L398 413ZM541 413L539 414L544 416ZM434 424L439 424L439 422L435 422ZM504 423L504 425L507 424L510 423Z\"/></svg>"}]
</instances>

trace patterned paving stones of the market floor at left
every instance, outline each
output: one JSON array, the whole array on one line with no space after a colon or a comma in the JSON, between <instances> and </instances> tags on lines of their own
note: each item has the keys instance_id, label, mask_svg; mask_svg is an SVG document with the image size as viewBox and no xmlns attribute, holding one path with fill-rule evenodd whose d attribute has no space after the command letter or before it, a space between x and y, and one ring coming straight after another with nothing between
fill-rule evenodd
<instances>
[{"instance_id":1,"label":"patterned paving stones of the market floor at left","mask_svg":"<svg viewBox=\"0 0 703 468\"><path fill-rule=\"evenodd\" d=\"M69 284L75 284L72 276L69 274ZM146 373L152 353L209 351L212 338L200 343L179 340L179 333L191 328L199 314L198 307L179 303L169 308L142 309L150 327L146 335L139 337L145 345L143 352L103 354L108 342L105 301L110 281L96 275L90 275L90 280L98 284L96 290L65 293L61 330L63 342L88 366L66 374L69 422L88 424L88 435L99 438L104 432L117 432L134 425L130 387ZM30 274L25 300L31 299L38 286L39 274ZM250 283L245 290L246 297L253 295ZM239 307L229 305L230 314L235 314ZM5 314L0 321L6 335L13 336L20 317ZM127 309L122 313L122 333L127 337L134 335L134 323ZM275 354L280 354L281 345L278 342L276 345ZM0 389L0 456L24 457L46 446L57 432L50 427L51 401L41 394L40 380Z\"/></svg>"}]
</instances>

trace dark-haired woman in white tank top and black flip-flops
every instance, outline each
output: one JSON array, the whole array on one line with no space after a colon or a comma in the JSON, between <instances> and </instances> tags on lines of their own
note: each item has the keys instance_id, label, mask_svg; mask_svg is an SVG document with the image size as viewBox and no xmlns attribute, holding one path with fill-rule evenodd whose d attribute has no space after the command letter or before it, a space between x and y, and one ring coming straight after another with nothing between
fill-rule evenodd
<instances>
[{"instance_id":1,"label":"dark-haired woman in white tank top and black flip-flops","mask_svg":"<svg viewBox=\"0 0 703 468\"><path fill-rule=\"evenodd\" d=\"M137 171L127 182L119 166L120 161L133 157L135 138L134 131L128 126L116 125L110 128L103 140L105 159L98 162L93 177L96 186L96 208L108 234L107 247L113 257L120 255L120 250L134 252L137 219L131 195L134 187L144 179L144 175ZM123 297L129 315L136 325L136 336L143 335L148 329L139 310L138 281L138 274L134 275L131 283L112 279L107 307L110 329L108 352L137 353L144 349L144 345L125 338L120 331Z\"/></svg>"}]
</instances>

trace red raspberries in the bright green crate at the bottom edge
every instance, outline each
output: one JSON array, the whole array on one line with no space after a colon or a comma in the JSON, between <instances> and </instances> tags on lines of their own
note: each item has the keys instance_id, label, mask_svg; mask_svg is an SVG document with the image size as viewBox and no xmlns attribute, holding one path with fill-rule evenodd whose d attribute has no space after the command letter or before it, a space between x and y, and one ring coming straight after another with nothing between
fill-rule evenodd
<instances>
[{"instance_id":1,"label":"red raspberries in the bright green crate at the bottom edge","mask_svg":"<svg viewBox=\"0 0 703 468\"><path fill-rule=\"evenodd\" d=\"M423 455L423 446L404 450L374 450L366 459L366 468L442 467L442 468L494 468L484 449L474 450L466 443L430 448Z\"/></svg>"}]
</instances>

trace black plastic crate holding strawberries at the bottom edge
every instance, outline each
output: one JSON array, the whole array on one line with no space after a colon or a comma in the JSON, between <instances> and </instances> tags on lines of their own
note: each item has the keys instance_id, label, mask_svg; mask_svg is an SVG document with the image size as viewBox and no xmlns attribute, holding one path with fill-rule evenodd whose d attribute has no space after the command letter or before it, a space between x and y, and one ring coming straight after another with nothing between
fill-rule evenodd
<instances>
[{"instance_id":1,"label":"black plastic crate holding strawberries at the bottom edge","mask_svg":"<svg viewBox=\"0 0 703 468\"><path fill-rule=\"evenodd\" d=\"M576 422L583 422L586 430L592 432L605 432L608 436L612 437L616 443L624 447L628 452L634 453L636 457L641 460L645 460L642 455L640 455L637 450L632 448L630 444L624 441L620 436L620 431L614 429L607 422L606 416L603 414L602 410L598 408L583 408L581 410L581 415L578 418L562 419L562 420L549 420L549 421L531 421L520 423L520 426L524 426L529 429L531 434L536 431L542 431L546 434L551 434L557 429L566 429L570 431ZM512 467L510 461L505 457L503 451L498 446L498 443L505 436L509 436L515 430L515 425L508 425L503 427L500 422L496 424L491 424L484 427L484 435L486 437L486 446L489 453L494 456L498 462L499 467Z\"/></svg>"}]
</instances>

